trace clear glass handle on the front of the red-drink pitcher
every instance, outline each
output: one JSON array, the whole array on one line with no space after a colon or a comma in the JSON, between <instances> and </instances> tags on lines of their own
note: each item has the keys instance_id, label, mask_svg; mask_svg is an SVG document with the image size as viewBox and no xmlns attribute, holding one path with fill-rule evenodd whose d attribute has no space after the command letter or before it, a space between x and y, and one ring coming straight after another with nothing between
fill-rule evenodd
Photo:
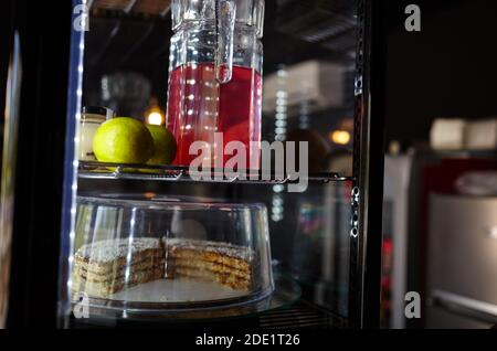
<instances>
[{"instance_id":1,"label":"clear glass handle on the front of the red-drink pitcher","mask_svg":"<svg viewBox=\"0 0 497 351\"><path fill-rule=\"evenodd\" d=\"M220 84L232 78L235 21L236 1L215 0L215 78Z\"/></svg>"}]
</instances>

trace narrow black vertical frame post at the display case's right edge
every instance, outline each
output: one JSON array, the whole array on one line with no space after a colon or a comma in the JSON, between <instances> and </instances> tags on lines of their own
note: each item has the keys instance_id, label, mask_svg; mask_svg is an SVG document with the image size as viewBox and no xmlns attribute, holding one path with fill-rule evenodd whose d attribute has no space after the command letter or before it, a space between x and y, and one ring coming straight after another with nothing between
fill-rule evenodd
<instances>
[{"instance_id":1,"label":"narrow black vertical frame post at the display case's right edge","mask_svg":"<svg viewBox=\"0 0 497 351\"><path fill-rule=\"evenodd\" d=\"M387 30L383 1L358 1L349 322L379 328ZM373 100L374 98L374 100Z\"/></svg>"}]
</instances>

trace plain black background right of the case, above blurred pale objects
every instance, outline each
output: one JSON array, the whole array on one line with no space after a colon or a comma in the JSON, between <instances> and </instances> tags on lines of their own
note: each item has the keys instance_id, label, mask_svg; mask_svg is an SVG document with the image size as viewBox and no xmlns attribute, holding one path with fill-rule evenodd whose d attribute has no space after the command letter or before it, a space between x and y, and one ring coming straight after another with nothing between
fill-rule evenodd
<instances>
[{"instance_id":1,"label":"plain black background right of the case, above blurred pale objects","mask_svg":"<svg viewBox=\"0 0 497 351\"><path fill-rule=\"evenodd\" d=\"M404 29L409 3L419 33ZM497 1L389 1L387 18L387 142L427 140L435 117L497 116Z\"/></svg>"}]
</instances>

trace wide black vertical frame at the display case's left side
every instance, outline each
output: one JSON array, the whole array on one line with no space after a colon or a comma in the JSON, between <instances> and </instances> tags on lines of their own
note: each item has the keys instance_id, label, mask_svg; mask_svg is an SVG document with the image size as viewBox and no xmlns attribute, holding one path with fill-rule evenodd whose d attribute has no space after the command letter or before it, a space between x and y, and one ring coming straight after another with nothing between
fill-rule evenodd
<instances>
[{"instance_id":1,"label":"wide black vertical frame at the display case's left side","mask_svg":"<svg viewBox=\"0 0 497 351\"><path fill-rule=\"evenodd\" d=\"M56 326L57 279L65 160L71 1L53 7L10 0L20 34L22 82L15 168L12 259L7 327ZM4 7L6 3L2 3ZM1 82L4 84L4 82Z\"/></svg>"}]
</instances>

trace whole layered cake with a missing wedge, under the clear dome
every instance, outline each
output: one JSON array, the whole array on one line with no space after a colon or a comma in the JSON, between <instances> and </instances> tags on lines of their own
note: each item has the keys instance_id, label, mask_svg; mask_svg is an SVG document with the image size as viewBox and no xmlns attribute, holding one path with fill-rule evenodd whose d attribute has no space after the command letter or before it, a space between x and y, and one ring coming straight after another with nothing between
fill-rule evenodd
<instances>
[{"instance_id":1,"label":"whole layered cake with a missing wedge, under the clear dome","mask_svg":"<svg viewBox=\"0 0 497 351\"><path fill-rule=\"evenodd\" d=\"M248 291L253 262L250 248L228 243L151 237L98 241L74 255L72 289L109 298L136 285L183 277Z\"/></svg>"}]
</instances>

